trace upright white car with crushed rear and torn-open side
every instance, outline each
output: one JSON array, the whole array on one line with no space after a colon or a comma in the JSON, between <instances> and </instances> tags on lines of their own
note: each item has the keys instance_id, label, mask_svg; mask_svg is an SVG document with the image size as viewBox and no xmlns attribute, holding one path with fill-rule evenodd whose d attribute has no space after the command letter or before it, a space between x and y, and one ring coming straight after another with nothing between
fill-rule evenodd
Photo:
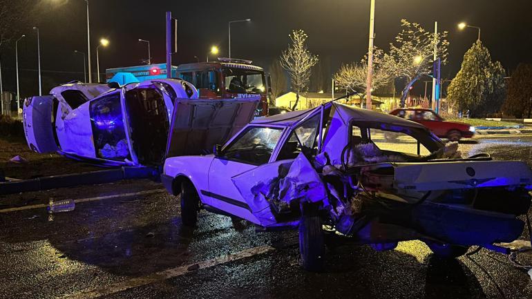
<instances>
[{"instance_id":1,"label":"upright white car with crushed rear and torn-open side","mask_svg":"<svg viewBox=\"0 0 532 299\"><path fill-rule=\"evenodd\" d=\"M181 195L184 225L204 208L266 231L298 228L312 271L323 267L324 231L380 250L403 240L444 257L497 250L523 231L532 171L456 150L415 122L331 102L256 119L212 155L168 153L162 182Z\"/></svg>"}]
</instances>

